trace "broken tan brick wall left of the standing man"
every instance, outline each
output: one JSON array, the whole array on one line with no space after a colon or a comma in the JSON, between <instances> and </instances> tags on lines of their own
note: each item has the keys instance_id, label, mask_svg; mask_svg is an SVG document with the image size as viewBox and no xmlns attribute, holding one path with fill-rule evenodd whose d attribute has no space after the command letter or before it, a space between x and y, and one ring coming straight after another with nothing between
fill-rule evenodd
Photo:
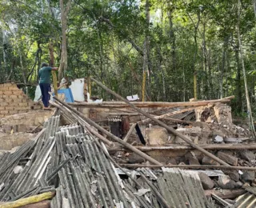
<instances>
[{"instance_id":1,"label":"broken tan brick wall left of the standing man","mask_svg":"<svg viewBox=\"0 0 256 208\"><path fill-rule=\"evenodd\" d=\"M15 83L0 84L0 118L39 109L42 106L30 100Z\"/></svg>"}]
</instances>

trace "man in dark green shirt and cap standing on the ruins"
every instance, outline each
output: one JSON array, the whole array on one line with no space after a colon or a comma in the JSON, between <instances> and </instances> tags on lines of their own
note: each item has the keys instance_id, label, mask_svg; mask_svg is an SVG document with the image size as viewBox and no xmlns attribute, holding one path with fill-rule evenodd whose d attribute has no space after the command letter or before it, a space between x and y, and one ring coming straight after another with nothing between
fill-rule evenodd
<instances>
[{"instance_id":1,"label":"man in dark green shirt and cap standing on the ruins","mask_svg":"<svg viewBox=\"0 0 256 208\"><path fill-rule=\"evenodd\" d=\"M50 72L51 70L58 70L58 67L50 67L46 63L42 63L42 68L39 70L39 86L42 93L42 103L44 110L49 110L50 101Z\"/></svg>"}]
</instances>

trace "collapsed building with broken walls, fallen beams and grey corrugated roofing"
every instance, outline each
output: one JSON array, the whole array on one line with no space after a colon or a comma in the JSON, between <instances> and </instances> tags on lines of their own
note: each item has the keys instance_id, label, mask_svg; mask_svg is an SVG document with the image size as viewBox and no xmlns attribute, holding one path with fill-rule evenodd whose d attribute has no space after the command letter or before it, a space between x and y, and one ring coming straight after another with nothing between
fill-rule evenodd
<instances>
[{"instance_id":1,"label":"collapsed building with broken walls, fallen beams and grey corrugated roofing","mask_svg":"<svg viewBox=\"0 0 256 208\"><path fill-rule=\"evenodd\" d=\"M0 207L255 207L256 145L228 102L56 98L43 121L2 118L4 134L34 136L2 150Z\"/></svg>"}]
</instances>

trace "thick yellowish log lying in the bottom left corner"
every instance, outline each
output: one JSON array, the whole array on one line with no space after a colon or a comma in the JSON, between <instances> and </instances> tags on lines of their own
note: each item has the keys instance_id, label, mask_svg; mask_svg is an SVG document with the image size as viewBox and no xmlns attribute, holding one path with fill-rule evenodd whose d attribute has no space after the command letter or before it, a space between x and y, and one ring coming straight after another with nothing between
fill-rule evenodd
<instances>
[{"instance_id":1,"label":"thick yellowish log lying in the bottom left corner","mask_svg":"<svg viewBox=\"0 0 256 208\"><path fill-rule=\"evenodd\" d=\"M43 200L53 198L54 194L55 194L54 192L46 192L43 194L31 196L28 198L18 199L17 201L14 201L14 202L6 202L6 203L0 205L0 208L15 208L15 207L20 207L20 206L25 206L28 204L33 204L36 202L42 202Z\"/></svg>"}]
</instances>

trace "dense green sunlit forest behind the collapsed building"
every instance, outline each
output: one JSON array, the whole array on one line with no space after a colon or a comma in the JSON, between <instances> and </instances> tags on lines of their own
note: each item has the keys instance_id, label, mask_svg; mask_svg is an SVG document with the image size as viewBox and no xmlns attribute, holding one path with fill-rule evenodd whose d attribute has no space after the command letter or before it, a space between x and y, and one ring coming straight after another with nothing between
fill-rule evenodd
<instances>
[{"instance_id":1,"label":"dense green sunlit forest behind the collapsed building","mask_svg":"<svg viewBox=\"0 0 256 208\"><path fill-rule=\"evenodd\" d=\"M255 14L255 0L0 0L0 82L36 84L50 48L59 80L93 76L123 97L145 86L146 101L235 95L242 115L247 78L256 112Z\"/></svg>"}]
</instances>

